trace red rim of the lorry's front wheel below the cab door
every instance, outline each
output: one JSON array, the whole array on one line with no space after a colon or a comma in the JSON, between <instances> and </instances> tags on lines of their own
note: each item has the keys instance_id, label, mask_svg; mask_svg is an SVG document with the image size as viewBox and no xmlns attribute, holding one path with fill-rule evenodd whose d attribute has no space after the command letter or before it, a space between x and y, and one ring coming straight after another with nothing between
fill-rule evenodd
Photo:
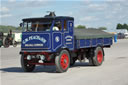
<instances>
[{"instance_id":1,"label":"red rim of the lorry's front wheel below the cab door","mask_svg":"<svg viewBox=\"0 0 128 85\"><path fill-rule=\"evenodd\" d=\"M65 70L69 65L69 58L67 54L62 54L60 59L60 65L63 70Z\"/></svg>"}]
</instances>

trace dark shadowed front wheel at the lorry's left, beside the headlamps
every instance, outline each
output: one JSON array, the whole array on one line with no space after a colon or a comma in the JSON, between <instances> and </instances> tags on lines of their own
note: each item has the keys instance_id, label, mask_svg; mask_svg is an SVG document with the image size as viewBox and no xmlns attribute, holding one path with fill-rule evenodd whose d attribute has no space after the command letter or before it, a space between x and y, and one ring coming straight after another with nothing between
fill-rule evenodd
<instances>
[{"instance_id":1,"label":"dark shadowed front wheel at the lorry's left, beside the headlamps","mask_svg":"<svg viewBox=\"0 0 128 85\"><path fill-rule=\"evenodd\" d=\"M32 72L35 69L35 65L29 64L26 56L24 55L21 55L21 66L24 72Z\"/></svg>"}]
</instances>

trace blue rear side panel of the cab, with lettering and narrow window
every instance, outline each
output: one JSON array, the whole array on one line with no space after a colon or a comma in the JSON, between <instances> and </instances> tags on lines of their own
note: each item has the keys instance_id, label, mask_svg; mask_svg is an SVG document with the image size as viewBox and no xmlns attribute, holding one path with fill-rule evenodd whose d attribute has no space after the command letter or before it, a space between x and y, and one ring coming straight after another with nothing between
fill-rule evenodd
<instances>
[{"instance_id":1,"label":"blue rear side panel of the cab, with lettering and narrow window","mask_svg":"<svg viewBox=\"0 0 128 85\"><path fill-rule=\"evenodd\" d=\"M73 50L74 49L74 37L73 37L73 21L64 20L64 47Z\"/></svg>"}]
</instances>

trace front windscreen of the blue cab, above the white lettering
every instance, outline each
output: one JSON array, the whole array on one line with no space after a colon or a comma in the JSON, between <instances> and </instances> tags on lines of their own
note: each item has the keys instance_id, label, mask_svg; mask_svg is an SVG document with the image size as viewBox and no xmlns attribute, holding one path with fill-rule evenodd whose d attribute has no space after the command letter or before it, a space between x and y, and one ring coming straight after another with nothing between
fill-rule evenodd
<instances>
[{"instance_id":1,"label":"front windscreen of the blue cab, above the white lettering","mask_svg":"<svg viewBox=\"0 0 128 85\"><path fill-rule=\"evenodd\" d=\"M50 31L52 22L24 22L23 32Z\"/></svg>"}]
</instances>

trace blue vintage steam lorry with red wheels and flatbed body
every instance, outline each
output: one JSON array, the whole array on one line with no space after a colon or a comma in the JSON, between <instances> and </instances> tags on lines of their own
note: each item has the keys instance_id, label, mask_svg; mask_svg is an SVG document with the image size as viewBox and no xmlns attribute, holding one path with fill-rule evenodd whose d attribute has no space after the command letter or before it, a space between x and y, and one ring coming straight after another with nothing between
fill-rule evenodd
<instances>
[{"instance_id":1,"label":"blue vintage steam lorry with red wheels and flatbed body","mask_svg":"<svg viewBox=\"0 0 128 85\"><path fill-rule=\"evenodd\" d=\"M93 37L81 39L75 36L74 18L55 16L54 12L45 17L27 18L22 21L20 54L21 66L26 72L33 71L36 65L55 65L57 72L66 72L77 59L82 61L85 57L91 65L98 66L104 60L103 47L112 44L111 36L107 36L106 40L104 37L94 37L92 40ZM102 40L106 45L100 44ZM94 42L95 46L92 45Z\"/></svg>"}]
</instances>

